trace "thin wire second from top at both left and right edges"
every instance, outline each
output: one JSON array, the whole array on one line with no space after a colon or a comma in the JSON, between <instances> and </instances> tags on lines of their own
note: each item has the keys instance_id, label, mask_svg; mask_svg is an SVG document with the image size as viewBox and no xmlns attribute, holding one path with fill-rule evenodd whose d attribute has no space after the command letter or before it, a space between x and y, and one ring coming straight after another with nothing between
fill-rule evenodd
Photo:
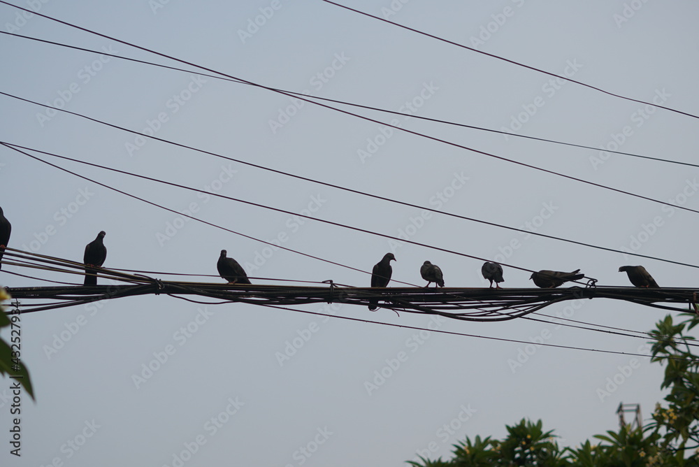
<instances>
[{"instance_id":1,"label":"thin wire second from top at both left and right edges","mask_svg":"<svg viewBox=\"0 0 699 467\"><path fill-rule=\"evenodd\" d=\"M6 35L8 35L8 36L20 37L20 38L24 38L24 39L29 39L29 40L31 40L31 41L38 41L38 42L48 43L48 44L52 44L52 45L59 45L60 47L64 47L64 48L71 48L71 49L75 49L75 50L82 50L83 52L90 52L90 53L99 54L99 55L106 55L106 56L108 56L108 57L113 57L113 58L117 58L117 59L127 60L127 61L130 61L130 62L137 62L137 63L140 63L140 64L147 64L147 65L151 65L151 66L157 66L157 67L160 67L160 68L170 69L170 70L174 70L174 71L183 71L183 72L185 72L185 73L196 73L196 74L199 74L199 75L201 75L201 76L206 76L206 77L208 77L208 78L213 78L213 79L215 79L215 80L231 81L231 82L236 82L236 83L238 83L238 84L240 84L240 85L247 85L247 86L252 86L252 87L264 88L264 86L257 85L256 83L253 83L253 82L245 82L245 81L238 80L238 79L235 79L235 78L226 78L226 77L224 77L224 76L216 76L216 75L211 75L211 74L209 74L209 73L197 73L196 71L187 70L187 69L182 69L182 68L178 68L178 67L176 67L176 66L168 66L168 65L163 65L163 64L157 64L157 63L154 63L154 62L147 62L146 60L139 60L139 59L134 59L134 58L131 58L131 57L122 57L121 55L110 54L110 53L108 53L108 52L102 52L102 51L99 51L99 50L91 50L91 49L82 48L82 47L77 47L77 46L75 46L75 45L69 45L69 44L59 43L59 42L55 42L55 41L48 41L48 40L46 40L46 39L40 39L40 38L29 37L29 36L22 36L21 34L15 34L15 33L7 32L7 31L0 31L0 34L6 34ZM462 128L468 128L468 129L475 129L475 130L479 130L479 131L487 131L487 132L495 133L495 134L503 134L503 135L507 135L507 136L514 136L515 138L526 138L526 139L531 139L531 140L533 140L533 141L542 141L542 142L544 142L544 143L553 143L553 144L558 144L558 145L565 145L565 146L570 146L570 147L572 147L572 148L581 148L581 149L587 149L587 150L593 150L593 151L600 151L600 148L594 148L593 146L587 146L587 145L582 145L582 144L577 144L577 143L568 143L568 142L566 142L566 141L556 141L556 140L552 140L552 139L549 139L549 138L539 138L539 137L537 137L537 136L529 136L529 135L524 135L524 134L510 133L509 131L502 131L502 130L496 130L496 129L491 129L491 128L477 127L477 126L475 126L475 125L469 125L469 124L457 123L457 122L450 122L449 120L440 120L440 119L438 119L438 118L424 117L424 116L421 116L421 115L411 115L411 114L408 114L408 113L398 112L398 111L396 111L396 110L388 110L388 109L385 109L385 108L379 108L379 107L374 107L374 106L368 106L368 105L365 105L365 104L359 104L359 103L353 103L353 102L347 102L347 101L340 101L340 100L338 100L338 99L329 99L329 98L327 98L327 97L310 96L310 95L308 95L308 94L303 94L303 93L301 93L301 92L295 92L295 91L288 91L288 90L286 90L286 89L271 88L271 87L268 88L268 89L274 89L274 90L277 91L277 92L286 92L286 93L288 93L288 94L294 94L295 96L305 96L305 97L309 97L309 98L311 98L311 99L317 99L317 100L319 100L319 101L326 101L326 102L332 102L332 103L339 103L339 104L342 104L342 105L345 105L345 106L352 106L352 107L356 107L356 108L364 108L364 109L367 109L367 110L375 110L376 112L389 113L389 114L391 114L391 115L401 115L401 117L411 117L411 118L415 118L415 119L417 119L417 120L426 120L426 121L428 121L428 122L442 123L442 124L452 125L452 126L455 126L455 127L462 127ZM12 95L10 95L10 94L5 94L5 95L10 96L10 97L16 97L16 96L12 96ZM38 105L42 105L42 104L38 104ZM49 106L49 108L53 108L53 107L50 107L50 106ZM64 109L58 109L58 108L55 108L55 110L62 110L62 111L65 111ZM699 164L691 164L691 163L689 163L689 162L675 161L675 160L672 160L672 159L662 159L662 158L660 158L660 157L644 156L644 155L639 155L639 154L633 154L632 152L614 151L614 150L610 150L610 149L604 149L604 151L605 151L605 152L609 152L609 153L611 153L611 154L618 154L618 155L624 155L624 156L629 156L629 157L637 157L637 158L640 158L640 159L648 159L648 160L651 160L651 161L667 162L668 164L679 164L679 165L689 166L689 167L699 167Z\"/></svg>"}]
</instances>

